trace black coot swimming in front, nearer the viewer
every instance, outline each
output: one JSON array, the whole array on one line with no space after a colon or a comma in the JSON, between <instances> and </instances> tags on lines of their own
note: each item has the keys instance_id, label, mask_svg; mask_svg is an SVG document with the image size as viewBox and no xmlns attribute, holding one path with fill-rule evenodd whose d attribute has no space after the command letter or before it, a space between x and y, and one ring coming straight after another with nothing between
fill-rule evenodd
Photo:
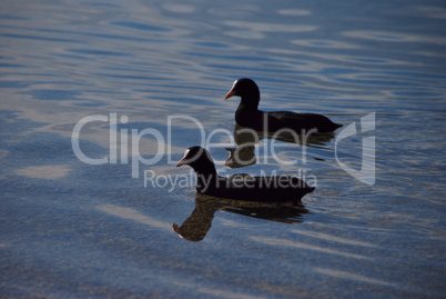
<instances>
[{"instance_id":1,"label":"black coot swimming in front, nearer the viewer","mask_svg":"<svg viewBox=\"0 0 446 299\"><path fill-rule=\"evenodd\" d=\"M216 198L300 205L301 199L315 189L295 176L253 177L237 173L221 177L209 151L199 146L185 150L176 165L181 166L190 166L195 171L197 193Z\"/></svg>"}]
</instances>

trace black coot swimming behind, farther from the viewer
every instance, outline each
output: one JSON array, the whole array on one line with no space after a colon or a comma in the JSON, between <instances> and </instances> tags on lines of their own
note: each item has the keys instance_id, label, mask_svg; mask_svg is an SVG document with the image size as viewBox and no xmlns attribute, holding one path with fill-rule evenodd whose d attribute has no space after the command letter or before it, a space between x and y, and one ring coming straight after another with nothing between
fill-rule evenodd
<instances>
[{"instance_id":1,"label":"black coot swimming behind, farther from the viewer","mask_svg":"<svg viewBox=\"0 0 446 299\"><path fill-rule=\"evenodd\" d=\"M333 132L342 127L342 124L335 123L322 114L292 111L264 112L259 110L260 89L249 78L235 80L224 99L227 100L234 96L242 98L235 111L235 122L239 126L256 131L293 130L296 133L307 133L313 130L312 132L324 133Z\"/></svg>"}]
</instances>

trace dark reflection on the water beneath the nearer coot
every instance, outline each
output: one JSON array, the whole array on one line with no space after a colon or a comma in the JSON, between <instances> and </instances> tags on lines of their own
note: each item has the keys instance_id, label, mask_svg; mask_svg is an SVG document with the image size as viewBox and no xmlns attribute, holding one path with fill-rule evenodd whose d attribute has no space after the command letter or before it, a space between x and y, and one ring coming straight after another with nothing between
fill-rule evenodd
<instances>
[{"instance_id":1,"label":"dark reflection on the water beneath the nearer coot","mask_svg":"<svg viewBox=\"0 0 446 299\"><path fill-rule=\"evenodd\" d=\"M189 241L201 241L211 229L216 211L223 210L247 217L282 223L302 223L303 215L310 211L302 205L292 202L263 203L210 197L196 193L195 208L181 226L172 225L173 230Z\"/></svg>"}]
</instances>

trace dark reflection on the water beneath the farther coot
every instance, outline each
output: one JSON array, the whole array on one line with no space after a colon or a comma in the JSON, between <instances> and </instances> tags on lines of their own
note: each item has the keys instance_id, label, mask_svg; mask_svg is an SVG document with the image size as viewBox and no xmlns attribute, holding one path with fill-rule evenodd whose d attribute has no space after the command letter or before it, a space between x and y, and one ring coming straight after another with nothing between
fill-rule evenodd
<instances>
[{"instance_id":1,"label":"dark reflection on the water beneath the farther coot","mask_svg":"<svg viewBox=\"0 0 446 299\"><path fill-rule=\"evenodd\" d=\"M239 124L234 127L234 140L236 148L225 148L230 152L230 157L224 165L229 168L241 168L256 163L255 146L262 139L272 139L287 143L295 143L312 148L327 149L325 146L335 138L334 132L324 133L306 133L302 134L283 131L280 133L255 131L250 128L244 128Z\"/></svg>"}]
</instances>

